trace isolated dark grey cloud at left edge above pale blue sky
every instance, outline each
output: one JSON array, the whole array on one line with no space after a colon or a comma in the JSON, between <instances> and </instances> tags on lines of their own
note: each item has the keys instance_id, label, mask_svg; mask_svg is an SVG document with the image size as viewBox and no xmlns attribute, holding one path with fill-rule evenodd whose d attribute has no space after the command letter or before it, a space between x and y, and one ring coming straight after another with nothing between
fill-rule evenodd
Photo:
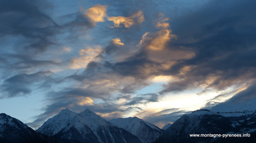
<instances>
[{"instance_id":1,"label":"isolated dark grey cloud at left edge above pale blue sky","mask_svg":"<svg viewBox=\"0 0 256 143\"><path fill-rule=\"evenodd\" d=\"M31 85L49 78L51 74L53 73L49 71L41 71L35 74L15 75L4 80L3 84L1 85L1 90L3 93L7 93L4 97L10 98L16 96L25 96L26 94L31 93Z\"/></svg>"}]
</instances>

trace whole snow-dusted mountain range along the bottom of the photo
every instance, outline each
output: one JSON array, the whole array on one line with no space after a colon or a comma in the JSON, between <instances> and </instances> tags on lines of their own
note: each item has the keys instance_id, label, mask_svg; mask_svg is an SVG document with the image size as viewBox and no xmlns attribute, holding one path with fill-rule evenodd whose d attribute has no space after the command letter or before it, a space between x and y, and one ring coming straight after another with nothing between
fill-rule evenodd
<instances>
[{"instance_id":1,"label":"whole snow-dusted mountain range along the bottom of the photo","mask_svg":"<svg viewBox=\"0 0 256 143\"><path fill-rule=\"evenodd\" d=\"M255 142L255 103L193 111L163 129L137 117L106 121L89 109L79 114L63 109L35 131L0 114L0 142Z\"/></svg>"}]
</instances>

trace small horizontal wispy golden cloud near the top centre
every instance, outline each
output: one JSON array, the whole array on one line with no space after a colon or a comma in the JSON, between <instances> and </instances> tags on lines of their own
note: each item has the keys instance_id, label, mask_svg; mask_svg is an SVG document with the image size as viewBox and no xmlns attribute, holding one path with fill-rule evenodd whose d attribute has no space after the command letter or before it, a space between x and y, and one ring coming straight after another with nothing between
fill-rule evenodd
<instances>
[{"instance_id":1,"label":"small horizontal wispy golden cloud near the top centre","mask_svg":"<svg viewBox=\"0 0 256 143\"><path fill-rule=\"evenodd\" d=\"M122 25L126 28L134 25L134 23L141 24L144 22L144 15L142 11L138 11L136 14L133 14L129 17L124 16L109 16L107 20L114 23L114 27L121 27Z\"/></svg>"}]
</instances>

